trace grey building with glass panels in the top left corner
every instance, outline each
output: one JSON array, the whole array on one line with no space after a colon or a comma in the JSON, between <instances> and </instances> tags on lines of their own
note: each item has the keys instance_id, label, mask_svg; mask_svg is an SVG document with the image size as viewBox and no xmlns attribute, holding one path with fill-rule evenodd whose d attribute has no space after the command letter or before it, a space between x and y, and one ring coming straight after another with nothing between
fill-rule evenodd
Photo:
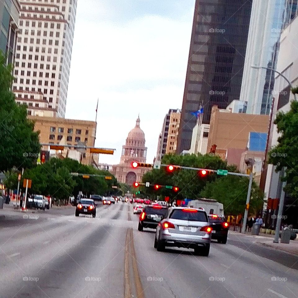
<instances>
[{"instance_id":1,"label":"grey building with glass panels in the top left corner","mask_svg":"<svg viewBox=\"0 0 298 298\"><path fill-rule=\"evenodd\" d=\"M19 14L18 0L0 1L0 50L7 55L7 64L13 64L15 59Z\"/></svg>"}]
</instances>

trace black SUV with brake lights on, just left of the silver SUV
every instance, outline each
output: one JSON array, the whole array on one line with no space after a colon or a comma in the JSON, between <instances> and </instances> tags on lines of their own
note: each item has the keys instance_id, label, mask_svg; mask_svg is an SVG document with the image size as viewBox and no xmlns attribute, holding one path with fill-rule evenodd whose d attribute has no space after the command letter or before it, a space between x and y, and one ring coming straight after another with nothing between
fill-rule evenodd
<instances>
[{"instance_id":1,"label":"black SUV with brake lights on, just left of the silver SUV","mask_svg":"<svg viewBox=\"0 0 298 298\"><path fill-rule=\"evenodd\" d=\"M143 228L156 229L158 223L167 215L168 208L160 205L147 205L144 207L139 219L138 230Z\"/></svg>"}]
</instances>

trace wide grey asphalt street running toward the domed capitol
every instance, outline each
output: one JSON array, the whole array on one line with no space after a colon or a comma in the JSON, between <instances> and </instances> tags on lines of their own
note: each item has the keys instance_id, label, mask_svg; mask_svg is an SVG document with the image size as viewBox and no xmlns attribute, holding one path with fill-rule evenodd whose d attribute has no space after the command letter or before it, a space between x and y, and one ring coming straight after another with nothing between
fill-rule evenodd
<instances>
[{"instance_id":1,"label":"wide grey asphalt street running toward the domed capitol","mask_svg":"<svg viewBox=\"0 0 298 298\"><path fill-rule=\"evenodd\" d=\"M297 256L237 235L213 242L209 257L157 252L132 210L98 205L95 219L76 218L74 207L0 213L0 297L297 298Z\"/></svg>"}]
</instances>

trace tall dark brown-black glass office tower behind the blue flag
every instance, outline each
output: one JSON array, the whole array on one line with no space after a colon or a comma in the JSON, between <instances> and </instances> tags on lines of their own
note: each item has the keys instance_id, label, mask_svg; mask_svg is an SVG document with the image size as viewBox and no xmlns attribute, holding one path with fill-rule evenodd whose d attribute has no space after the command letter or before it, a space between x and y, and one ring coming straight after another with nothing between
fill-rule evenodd
<instances>
[{"instance_id":1,"label":"tall dark brown-black glass office tower behind the blue flag","mask_svg":"<svg viewBox=\"0 0 298 298\"><path fill-rule=\"evenodd\" d=\"M191 112L203 106L203 123L209 123L213 105L226 108L239 99L251 2L196 0L177 154L190 148L196 124Z\"/></svg>"}]
</instances>

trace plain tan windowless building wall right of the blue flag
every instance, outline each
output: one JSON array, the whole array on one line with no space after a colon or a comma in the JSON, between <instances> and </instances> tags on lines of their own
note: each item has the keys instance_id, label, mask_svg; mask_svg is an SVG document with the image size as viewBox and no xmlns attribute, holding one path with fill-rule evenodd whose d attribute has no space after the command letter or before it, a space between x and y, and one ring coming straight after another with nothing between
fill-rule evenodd
<instances>
[{"instance_id":1,"label":"plain tan windowless building wall right of the blue flag","mask_svg":"<svg viewBox=\"0 0 298 298\"><path fill-rule=\"evenodd\" d=\"M218 106L213 106L207 153L210 152L213 145L217 146L217 150L245 149L250 132L268 133L268 127L268 115L232 113L226 109L219 109Z\"/></svg>"}]
</instances>

